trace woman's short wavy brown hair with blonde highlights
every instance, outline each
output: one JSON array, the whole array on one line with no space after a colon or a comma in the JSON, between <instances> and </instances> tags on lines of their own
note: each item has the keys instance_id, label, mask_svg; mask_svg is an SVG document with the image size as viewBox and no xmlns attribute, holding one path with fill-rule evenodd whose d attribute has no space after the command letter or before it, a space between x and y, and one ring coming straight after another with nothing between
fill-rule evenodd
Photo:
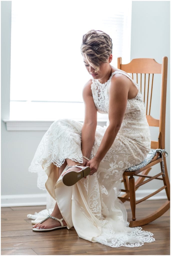
<instances>
[{"instance_id":1,"label":"woman's short wavy brown hair with blonde highlights","mask_svg":"<svg viewBox=\"0 0 171 256\"><path fill-rule=\"evenodd\" d=\"M107 62L112 54L112 39L101 30L90 30L83 35L81 54L97 72L100 62Z\"/></svg>"}]
</instances>

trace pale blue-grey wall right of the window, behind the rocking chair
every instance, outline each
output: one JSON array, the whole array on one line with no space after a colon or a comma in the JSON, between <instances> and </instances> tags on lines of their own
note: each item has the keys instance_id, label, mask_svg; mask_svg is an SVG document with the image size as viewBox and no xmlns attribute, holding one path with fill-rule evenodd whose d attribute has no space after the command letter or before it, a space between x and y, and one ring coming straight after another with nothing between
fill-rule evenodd
<instances>
[{"instance_id":1,"label":"pale blue-grey wall right of the window, behind the rocking chair","mask_svg":"<svg viewBox=\"0 0 171 256\"><path fill-rule=\"evenodd\" d=\"M166 97L166 133L165 148L167 169L170 174L170 1L133 1L131 22L131 59L153 58L162 63L162 57L168 57L167 97ZM159 100L161 76L154 75L151 115L159 119ZM158 128L150 127L152 140L158 140ZM153 167L151 174L157 174L160 164ZM153 180L152 188L161 185ZM160 186L162 187L162 185ZM149 189L145 184L142 189Z\"/></svg>"}]
</instances>

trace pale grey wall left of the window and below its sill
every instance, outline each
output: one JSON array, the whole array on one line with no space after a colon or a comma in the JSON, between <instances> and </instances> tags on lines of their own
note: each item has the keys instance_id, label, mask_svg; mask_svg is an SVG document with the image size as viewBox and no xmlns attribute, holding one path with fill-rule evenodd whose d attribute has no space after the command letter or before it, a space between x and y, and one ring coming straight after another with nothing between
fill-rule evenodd
<instances>
[{"instance_id":1,"label":"pale grey wall left of the window and below its sill","mask_svg":"<svg viewBox=\"0 0 171 256\"><path fill-rule=\"evenodd\" d=\"M7 131L2 121L9 119L11 1L1 2L1 28L1 194L44 193L28 167L45 132Z\"/></svg>"}]
</instances>

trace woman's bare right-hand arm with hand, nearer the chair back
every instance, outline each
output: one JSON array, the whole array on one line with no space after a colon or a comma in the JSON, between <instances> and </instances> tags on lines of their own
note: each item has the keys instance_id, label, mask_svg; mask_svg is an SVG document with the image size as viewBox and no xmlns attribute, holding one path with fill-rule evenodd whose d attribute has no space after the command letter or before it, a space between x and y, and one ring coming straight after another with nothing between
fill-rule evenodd
<instances>
[{"instance_id":1,"label":"woman's bare right-hand arm with hand, nearer the chair back","mask_svg":"<svg viewBox=\"0 0 171 256\"><path fill-rule=\"evenodd\" d=\"M109 87L109 126L106 129L96 155L87 164L91 168L91 173L97 171L101 160L116 138L126 111L128 92L129 86L123 76L116 74L115 77L112 77Z\"/></svg>"}]
</instances>

